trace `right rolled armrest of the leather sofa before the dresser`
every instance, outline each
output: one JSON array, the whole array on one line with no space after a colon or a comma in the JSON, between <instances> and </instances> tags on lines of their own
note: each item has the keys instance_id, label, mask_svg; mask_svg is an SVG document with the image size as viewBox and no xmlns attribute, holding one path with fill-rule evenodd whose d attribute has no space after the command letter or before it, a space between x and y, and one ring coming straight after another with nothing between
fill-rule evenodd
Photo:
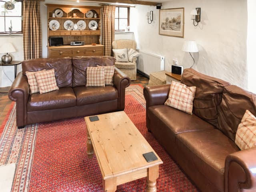
<instances>
[{"instance_id":1,"label":"right rolled armrest of the leather sofa before the dresser","mask_svg":"<svg viewBox=\"0 0 256 192\"><path fill-rule=\"evenodd\" d=\"M125 88L128 87L131 80L118 68L115 68L113 76L113 84L118 90L118 110L124 110L125 104Z\"/></svg>"}]
</instances>

